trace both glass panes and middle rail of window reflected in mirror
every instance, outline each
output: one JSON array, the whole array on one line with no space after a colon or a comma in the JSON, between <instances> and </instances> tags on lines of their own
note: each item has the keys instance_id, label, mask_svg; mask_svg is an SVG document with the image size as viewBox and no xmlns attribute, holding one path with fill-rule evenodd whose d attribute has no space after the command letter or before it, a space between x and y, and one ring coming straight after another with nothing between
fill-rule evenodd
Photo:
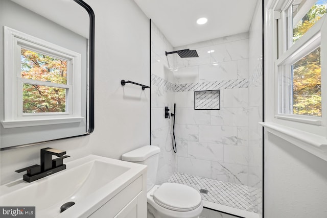
<instances>
[{"instance_id":1,"label":"both glass panes and middle rail of window reflected in mirror","mask_svg":"<svg viewBox=\"0 0 327 218\"><path fill-rule=\"evenodd\" d=\"M23 114L69 111L66 108L66 93L71 88L67 85L68 61L25 48L20 51L21 69L17 90L22 89L22 93L18 93L18 96L22 94L22 107L19 107L19 111Z\"/></svg>"}]
</instances>

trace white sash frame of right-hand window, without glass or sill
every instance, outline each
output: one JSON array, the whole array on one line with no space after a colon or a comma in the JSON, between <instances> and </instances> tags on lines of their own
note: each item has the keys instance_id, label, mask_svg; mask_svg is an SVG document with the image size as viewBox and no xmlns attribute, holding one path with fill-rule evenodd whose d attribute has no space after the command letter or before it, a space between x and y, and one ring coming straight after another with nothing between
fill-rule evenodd
<instances>
[{"instance_id":1,"label":"white sash frame of right-hand window, without glass or sill","mask_svg":"<svg viewBox=\"0 0 327 218\"><path fill-rule=\"evenodd\" d=\"M280 1L279 1L280 2ZM317 126L326 126L326 108L323 105L323 96L326 96L326 91L323 90L323 84L327 84L324 77L322 76L323 70L323 59L321 55L321 108L322 108L322 116L309 116L309 115L299 115L299 114L287 114L282 113L283 109L283 101L286 100L284 98L283 93L283 77L282 74L285 73L285 68L291 66L296 61L305 57L307 54L312 52L316 47L320 46L321 51L326 51L324 43L322 43L321 32L323 31L325 25L326 14L318 20L311 29L309 29L301 38L299 38L295 43L290 42L290 36L288 35L289 29L293 26L289 26L289 17L290 15L290 6L293 1L287 1L281 7L280 18L278 19L278 34L275 37L277 40L276 44L278 44L278 52L277 57L275 59L275 118L288 120L291 122L304 123L310 125ZM293 35L293 34L292 34ZM323 52L322 52L323 53Z\"/></svg>"}]
</instances>

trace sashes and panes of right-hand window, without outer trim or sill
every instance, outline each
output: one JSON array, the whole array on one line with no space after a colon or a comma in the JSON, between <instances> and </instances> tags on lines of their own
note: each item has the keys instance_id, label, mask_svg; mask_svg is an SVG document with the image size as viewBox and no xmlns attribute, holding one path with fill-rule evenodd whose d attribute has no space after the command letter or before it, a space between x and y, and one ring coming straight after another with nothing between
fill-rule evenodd
<instances>
[{"instance_id":1,"label":"sashes and panes of right-hand window, without outer trim or sill","mask_svg":"<svg viewBox=\"0 0 327 218\"><path fill-rule=\"evenodd\" d=\"M277 118L321 125L321 29L327 0L293 0L278 20Z\"/></svg>"}]
</instances>

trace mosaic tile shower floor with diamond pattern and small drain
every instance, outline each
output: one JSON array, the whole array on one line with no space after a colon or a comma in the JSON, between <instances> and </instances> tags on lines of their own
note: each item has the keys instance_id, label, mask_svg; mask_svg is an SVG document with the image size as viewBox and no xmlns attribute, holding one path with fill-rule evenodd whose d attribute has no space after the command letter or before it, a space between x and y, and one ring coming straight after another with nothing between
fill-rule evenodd
<instances>
[{"instance_id":1,"label":"mosaic tile shower floor with diamond pattern and small drain","mask_svg":"<svg viewBox=\"0 0 327 218\"><path fill-rule=\"evenodd\" d=\"M259 208L262 204L262 193L259 188L177 172L169 178L168 182L188 185L199 192L200 189L206 189L207 193L200 192L202 200L205 201L255 213L261 212Z\"/></svg>"}]
</instances>

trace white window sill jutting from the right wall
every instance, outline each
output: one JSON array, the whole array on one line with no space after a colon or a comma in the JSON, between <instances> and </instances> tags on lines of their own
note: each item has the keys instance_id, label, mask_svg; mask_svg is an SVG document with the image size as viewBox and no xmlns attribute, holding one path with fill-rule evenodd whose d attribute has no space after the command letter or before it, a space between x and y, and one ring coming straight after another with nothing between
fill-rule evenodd
<instances>
[{"instance_id":1,"label":"white window sill jutting from the right wall","mask_svg":"<svg viewBox=\"0 0 327 218\"><path fill-rule=\"evenodd\" d=\"M261 122L259 124L265 127L267 132L327 161L327 139L325 137L274 123Z\"/></svg>"}]
</instances>

